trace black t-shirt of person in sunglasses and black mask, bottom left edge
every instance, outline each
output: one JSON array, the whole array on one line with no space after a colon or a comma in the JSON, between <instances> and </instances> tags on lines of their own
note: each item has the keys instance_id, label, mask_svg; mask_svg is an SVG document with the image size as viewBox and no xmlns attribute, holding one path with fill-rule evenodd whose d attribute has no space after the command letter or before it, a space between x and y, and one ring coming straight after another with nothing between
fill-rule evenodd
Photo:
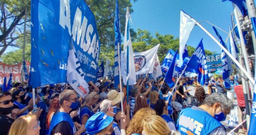
<instances>
[{"instance_id":1,"label":"black t-shirt of person in sunglasses and black mask, bottom left edge","mask_svg":"<svg viewBox=\"0 0 256 135\"><path fill-rule=\"evenodd\" d=\"M8 132L9 132L13 122L14 122L14 119L12 119L4 114L0 114L0 134L8 135Z\"/></svg>"}]
</instances>

